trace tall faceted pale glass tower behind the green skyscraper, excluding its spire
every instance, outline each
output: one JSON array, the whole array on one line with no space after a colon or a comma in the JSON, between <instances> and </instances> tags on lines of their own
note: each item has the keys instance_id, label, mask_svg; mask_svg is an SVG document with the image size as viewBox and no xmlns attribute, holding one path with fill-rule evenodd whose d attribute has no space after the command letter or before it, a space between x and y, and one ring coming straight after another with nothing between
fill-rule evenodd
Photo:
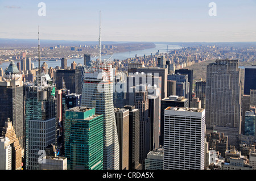
<instances>
[{"instance_id":1,"label":"tall faceted pale glass tower behind the green skyscraper, excluding its spire","mask_svg":"<svg viewBox=\"0 0 256 181\"><path fill-rule=\"evenodd\" d=\"M119 144L113 105L113 70L110 64L87 68L81 106L93 107L104 115L104 170L119 169Z\"/></svg>"}]
</instances>

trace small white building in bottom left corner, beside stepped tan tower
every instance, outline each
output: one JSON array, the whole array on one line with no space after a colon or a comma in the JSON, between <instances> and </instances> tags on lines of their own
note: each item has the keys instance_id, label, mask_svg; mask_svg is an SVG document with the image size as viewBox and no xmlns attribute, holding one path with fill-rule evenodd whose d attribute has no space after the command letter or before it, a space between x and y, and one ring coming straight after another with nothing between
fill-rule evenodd
<instances>
[{"instance_id":1,"label":"small white building in bottom left corner, beside stepped tan tower","mask_svg":"<svg viewBox=\"0 0 256 181\"><path fill-rule=\"evenodd\" d=\"M11 170L11 145L8 137L0 137L0 170Z\"/></svg>"}]
</instances>

